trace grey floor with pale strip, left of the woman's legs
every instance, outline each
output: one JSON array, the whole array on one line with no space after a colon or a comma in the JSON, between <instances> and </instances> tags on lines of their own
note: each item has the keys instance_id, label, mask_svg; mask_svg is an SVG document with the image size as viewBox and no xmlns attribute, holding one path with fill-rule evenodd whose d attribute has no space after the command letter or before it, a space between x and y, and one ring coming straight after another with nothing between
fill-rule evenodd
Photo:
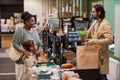
<instances>
[{"instance_id":1,"label":"grey floor with pale strip, left of the woman's legs","mask_svg":"<svg viewBox=\"0 0 120 80\"><path fill-rule=\"evenodd\" d=\"M0 49L0 80L16 80L15 64L5 53L6 49Z\"/></svg>"}]
</instances>

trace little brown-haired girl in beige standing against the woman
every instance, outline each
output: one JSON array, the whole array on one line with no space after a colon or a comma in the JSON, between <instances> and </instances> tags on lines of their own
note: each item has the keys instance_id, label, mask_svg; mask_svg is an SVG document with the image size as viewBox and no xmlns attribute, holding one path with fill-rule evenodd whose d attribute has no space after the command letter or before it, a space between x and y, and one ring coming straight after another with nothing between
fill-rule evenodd
<instances>
[{"instance_id":1,"label":"little brown-haired girl in beige standing against the woman","mask_svg":"<svg viewBox=\"0 0 120 80\"><path fill-rule=\"evenodd\" d=\"M23 48L30 52L30 55L28 58L23 56L22 60L24 62L24 73L23 73L23 80L29 80L29 74L28 74L28 68L31 68L36 65L36 56L35 52L37 49L37 45L34 41L28 40L22 43Z\"/></svg>"}]
</instances>

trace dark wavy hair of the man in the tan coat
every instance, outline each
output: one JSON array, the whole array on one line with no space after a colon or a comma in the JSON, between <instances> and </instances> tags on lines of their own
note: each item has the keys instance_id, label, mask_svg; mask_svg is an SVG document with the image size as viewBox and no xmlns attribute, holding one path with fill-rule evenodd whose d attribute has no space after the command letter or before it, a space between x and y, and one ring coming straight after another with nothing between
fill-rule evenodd
<instances>
[{"instance_id":1,"label":"dark wavy hair of the man in the tan coat","mask_svg":"<svg viewBox=\"0 0 120 80\"><path fill-rule=\"evenodd\" d=\"M99 15L99 18L101 19L105 18L105 10L101 4L95 4L93 8L95 8L97 12L101 12L101 14Z\"/></svg>"}]
</instances>

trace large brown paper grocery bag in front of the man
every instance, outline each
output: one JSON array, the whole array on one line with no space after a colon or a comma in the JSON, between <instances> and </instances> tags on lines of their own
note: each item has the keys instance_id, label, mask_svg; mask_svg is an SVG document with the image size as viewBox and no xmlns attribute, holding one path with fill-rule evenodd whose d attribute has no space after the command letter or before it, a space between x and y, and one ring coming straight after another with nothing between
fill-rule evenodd
<instances>
[{"instance_id":1,"label":"large brown paper grocery bag in front of the man","mask_svg":"<svg viewBox=\"0 0 120 80\"><path fill-rule=\"evenodd\" d=\"M77 46L77 68L97 69L98 68L99 46Z\"/></svg>"}]
</instances>

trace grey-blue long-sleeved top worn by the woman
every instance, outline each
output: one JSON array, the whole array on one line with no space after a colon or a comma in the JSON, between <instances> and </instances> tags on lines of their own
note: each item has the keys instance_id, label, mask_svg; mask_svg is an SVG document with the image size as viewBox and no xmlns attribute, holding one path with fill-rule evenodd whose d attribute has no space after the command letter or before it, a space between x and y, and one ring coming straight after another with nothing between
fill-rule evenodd
<instances>
[{"instance_id":1,"label":"grey-blue long-sleeved top worn by the woman","mask_svg":"<svg viewBox=\"0 0 120 80\"><path fill-rule=\"evenodd\" d=\"M38 35L35 28L33 28L33 32L28 32L24 28L18 28L15 31L14 36L13 36L13 47L18 50L20 43L27 41L27 40L35 41L38 48L42 44L41 40L39 39L39 35Z\"/></svg>"}]
</instances>

